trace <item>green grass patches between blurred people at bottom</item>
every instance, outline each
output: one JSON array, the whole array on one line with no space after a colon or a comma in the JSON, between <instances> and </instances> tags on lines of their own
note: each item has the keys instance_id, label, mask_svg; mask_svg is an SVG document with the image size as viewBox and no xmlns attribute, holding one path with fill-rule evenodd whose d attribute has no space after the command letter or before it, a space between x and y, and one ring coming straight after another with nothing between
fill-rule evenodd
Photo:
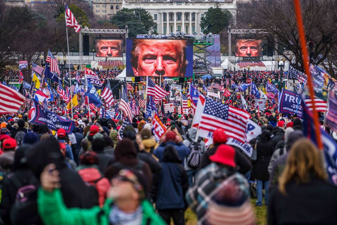
<instances>
[{"instance_id":1,"label":"green grass patches between blurred people at bottom","mask_svg":"<svg viewBox=\"0 0 337 225\"><path fill-rule=\"evenodd\" d=\"M256 199L250 200L250 203L255 209L256 224L267 224L267 206L264 205L262 207L256 207L255 201ZM196 215L190 210L190 208L188 208L185 212L185 221L186 225L195 225L197 222ZM173 224L173 222L171 222L171 224Z\"/></svg>"}]
</instances>

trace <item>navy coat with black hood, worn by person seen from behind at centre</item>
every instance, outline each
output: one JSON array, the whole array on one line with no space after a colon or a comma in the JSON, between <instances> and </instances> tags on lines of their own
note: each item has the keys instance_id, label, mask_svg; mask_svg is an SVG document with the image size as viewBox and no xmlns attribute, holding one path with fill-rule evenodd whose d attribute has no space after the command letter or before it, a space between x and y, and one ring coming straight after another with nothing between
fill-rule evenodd
<instances>
[{"instance_id":1,"label":"navy coat with black hood, worn by person seen from behind at centre","mask_svg":"<svg viewBox=\"0 0 337 225\"><path fill-rule=\"evenodd\" d=\"M153 179L152 198L157 210L185 207L185 193L188 189L188 177L181 165L177 150L169 148L164 151L157 179Z\"/></svg>"}]
</instances>

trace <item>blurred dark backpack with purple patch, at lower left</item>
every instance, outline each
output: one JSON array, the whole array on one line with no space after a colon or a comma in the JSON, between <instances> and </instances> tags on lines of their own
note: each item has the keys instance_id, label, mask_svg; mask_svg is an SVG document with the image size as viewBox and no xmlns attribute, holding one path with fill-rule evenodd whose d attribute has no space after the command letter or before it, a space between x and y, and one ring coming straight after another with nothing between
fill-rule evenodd
<instances>
[{"instance_id":1,"label":"blurred dark backpack with purple patch, at lower left","mask_svg":"<svg viewBox=\"0 0 337 225\"><path fill-rule=\"evenodd\" d=\"M10 220L13 224L42 224L37 212L37 185L34 185L33 177L28 184L24 184L14 174L7 178L18 189L15 202L10 212Z\"/></svg>"}]
</instances>

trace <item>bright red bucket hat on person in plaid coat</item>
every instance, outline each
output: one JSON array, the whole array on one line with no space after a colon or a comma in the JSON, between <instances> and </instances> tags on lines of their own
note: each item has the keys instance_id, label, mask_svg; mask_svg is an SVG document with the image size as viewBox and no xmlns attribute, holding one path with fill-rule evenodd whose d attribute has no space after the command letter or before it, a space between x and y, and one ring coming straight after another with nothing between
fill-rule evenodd
<instances>
[{"instance_id":1,"label":"bright red bucket hat on person in plaid coat","mask_svg":"<svg viewBox=\"0 0 337 225\"><path fill-rule=\"evenodd\" d=\"M215 153L208 157L212 162L218 162L223 165L236 167L235 150L227 144L220 144Z\"/></svg>"}]
</instances>

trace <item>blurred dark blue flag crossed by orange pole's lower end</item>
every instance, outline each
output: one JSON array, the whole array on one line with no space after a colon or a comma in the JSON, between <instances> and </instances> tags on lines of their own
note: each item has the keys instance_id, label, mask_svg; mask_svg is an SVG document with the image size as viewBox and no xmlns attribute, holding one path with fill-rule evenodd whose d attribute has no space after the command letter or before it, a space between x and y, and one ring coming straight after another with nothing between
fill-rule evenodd
<instances>
[{"instance_id":1,"label":"blurred dark blue flag crossed by orange pole's lower end","mask_svg":"<svg viewBox=\"0 0 337 225\"><path fill-rule=\"evenodd\" d=\"M302 101L301 106L303 107L303 134L308 137L317 146L316 138L316 127L313 122L312 112L309 111L308 107ZM322 128L320 129L320 139L323 142L323 153L324 159L327 164L328 178L331 183L337 185L337 145L336 141L333 140Z\"/></svg>"}]
</instances>

